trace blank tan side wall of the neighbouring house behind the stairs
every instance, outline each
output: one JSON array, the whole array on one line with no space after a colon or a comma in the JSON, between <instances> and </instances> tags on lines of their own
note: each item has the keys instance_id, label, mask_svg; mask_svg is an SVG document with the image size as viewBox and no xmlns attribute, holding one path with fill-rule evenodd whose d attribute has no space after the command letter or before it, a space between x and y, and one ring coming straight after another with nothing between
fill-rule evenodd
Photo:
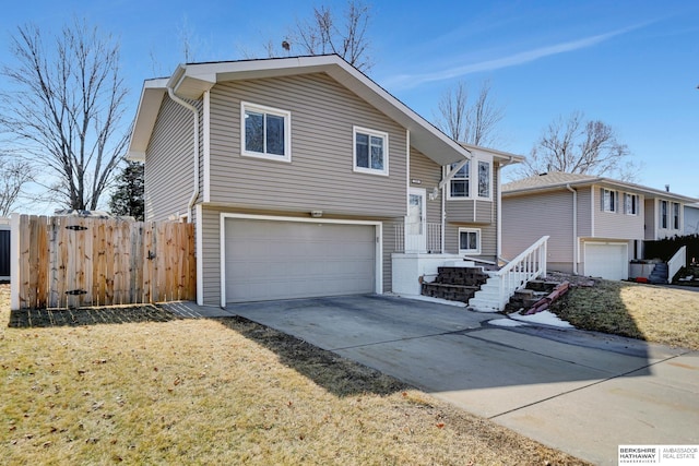
<instances>
[{"instance_id":1,"label":"blank tan side wall of the neighbouring house behind the stairs","mask_svg":"<svg viewBox=\"0 0 699 466\"><path fill-rule=\"evenodd\" d=\"M554 191L502 199L502 256L514 259L543 236L548 240L548 262L573 262L572 193ZM552 268L556 270L556 268Z\"/></svg>"}]
</instances>

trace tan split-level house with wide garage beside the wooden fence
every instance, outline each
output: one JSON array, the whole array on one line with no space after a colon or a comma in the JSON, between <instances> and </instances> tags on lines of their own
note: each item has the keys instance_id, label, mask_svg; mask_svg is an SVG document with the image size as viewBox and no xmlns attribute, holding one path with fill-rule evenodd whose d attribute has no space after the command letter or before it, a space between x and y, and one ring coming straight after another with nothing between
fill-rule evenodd
<instances>
[{"instance_id":1,"label":"tan split-level house with wide garage beside the wooden fence","mask_svg":"<svg viewBox=\"0 0 699 466\"><path fill-rule=\"evenodd\" d=\"M419 294L435 263L494 262L500 167L521 160L458 144L334 55L147 80L129 157L145 163L146 219L196 224L213 306Z\"/></svg>"}]
</instances>

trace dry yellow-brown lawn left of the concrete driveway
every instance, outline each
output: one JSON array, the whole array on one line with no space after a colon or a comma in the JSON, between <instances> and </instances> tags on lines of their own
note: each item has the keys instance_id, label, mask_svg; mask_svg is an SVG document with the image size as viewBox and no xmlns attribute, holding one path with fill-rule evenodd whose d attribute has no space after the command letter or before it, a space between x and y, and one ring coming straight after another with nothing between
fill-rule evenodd
<instances>
[{"instance_id":1,"label":"dry yellow-brown lawn left of the concrete driveway","mask_svg":"<svg viewBox=\"0 0 699 466\"><path fill-rule=\"evenodd\" d=\"M0 463L583 464L249 321L158 312L29 321L0 286Z\"/></svg>"}]
</instances>

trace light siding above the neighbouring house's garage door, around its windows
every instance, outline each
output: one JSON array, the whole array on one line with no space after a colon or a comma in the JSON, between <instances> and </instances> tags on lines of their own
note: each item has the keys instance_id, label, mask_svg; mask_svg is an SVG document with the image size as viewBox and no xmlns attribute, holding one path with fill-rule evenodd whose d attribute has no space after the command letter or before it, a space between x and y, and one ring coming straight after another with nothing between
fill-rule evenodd
<instances>
[{"instance_id":1,"label":"light siding above the neighbouring house's garage door, around its windows","mask_svg":"<svg viewBox=\"0 0 699 466\"><path fill-rule=\"evenodd\" d=\"M607 239L643 239L643 196L639 195L638 215L624 213L624 191L616 191L618 204L616 212L605 212L603 206L602 188L595 187L597 202L594 210L594 237ZM582 235L579 235L582 236Z\"/></svg>"}]
</instances>

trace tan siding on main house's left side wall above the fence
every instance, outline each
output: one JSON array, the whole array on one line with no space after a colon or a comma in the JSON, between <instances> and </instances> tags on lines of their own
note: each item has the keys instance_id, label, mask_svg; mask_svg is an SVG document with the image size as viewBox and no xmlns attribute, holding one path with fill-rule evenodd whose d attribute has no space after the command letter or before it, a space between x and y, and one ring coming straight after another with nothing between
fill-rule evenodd
<instances>
[{"instance_id":1,"label":"tan siding on main house's left side wall above the fence","mask_svg":"<svg viewBox=\"0 0 699 466\"><path fill-rule=\"evenodd\" d=\"M145 153L145 218L186 214L193 192L193 116L165 97Z\"/></svg>"}]
</instances>

